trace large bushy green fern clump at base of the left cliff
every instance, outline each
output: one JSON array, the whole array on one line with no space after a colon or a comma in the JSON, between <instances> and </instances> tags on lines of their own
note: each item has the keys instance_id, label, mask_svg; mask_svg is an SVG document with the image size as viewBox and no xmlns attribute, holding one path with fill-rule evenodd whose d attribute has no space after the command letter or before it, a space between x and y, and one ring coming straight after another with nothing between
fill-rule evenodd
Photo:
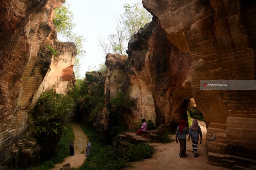
<instances>
[{"instance_id":1,"label":"large bushy green fern clump at base of the left cliff","mask_svg":"<svg viewBox=\"0 0 256 170\"><path fill-rule=\"evenodd\" d=\"M30 117L32 132L40 139L42 136L62 134L62 131L67 130L74 106L74 100L68 95L56 94L53 90L45 91Z\"/></svg>"}]
</instances>

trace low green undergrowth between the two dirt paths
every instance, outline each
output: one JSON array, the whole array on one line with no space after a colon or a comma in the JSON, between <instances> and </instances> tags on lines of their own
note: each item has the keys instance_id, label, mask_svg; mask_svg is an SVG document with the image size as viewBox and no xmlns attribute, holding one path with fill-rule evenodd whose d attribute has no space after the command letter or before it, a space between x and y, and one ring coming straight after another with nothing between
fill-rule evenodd
<instances>
[{"instance_id":1,"label":"low green undergrowth between the two dirt paths","mask_svg":"<svg viewBox=\"0 0 256 170\"><path fill-rule=\"evenodd\" d=\"M97 133L87 127L82 127L92 143L90 156L79 170L118 170L129 166L130 161L138 161L151 157L154 153L153 147L147 144L130 144L126 148L107 146L99 138Z\"/></svg>"}]
</instances>

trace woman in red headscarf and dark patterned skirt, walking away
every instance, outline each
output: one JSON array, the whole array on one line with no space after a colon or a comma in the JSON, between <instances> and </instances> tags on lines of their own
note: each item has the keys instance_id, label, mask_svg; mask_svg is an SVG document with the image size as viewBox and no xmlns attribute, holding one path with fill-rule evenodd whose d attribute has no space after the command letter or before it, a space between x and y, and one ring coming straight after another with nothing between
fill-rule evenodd
<instances>
[{"instance_id":1,"label":"woman in red headscarf and dark patterned skirt, walking away","mask_svg":"<svg viewBox=\"0 0 256 170\"><path fill-rule=\"evenodd\" d=\"M181 119L180 126L176 130L176 143L180 142L180 158L186 157L186 138L188 134L188 127L186 126L185 120ZM178 138L178 139L177 139Z\"/></svg>"}]
</instances>

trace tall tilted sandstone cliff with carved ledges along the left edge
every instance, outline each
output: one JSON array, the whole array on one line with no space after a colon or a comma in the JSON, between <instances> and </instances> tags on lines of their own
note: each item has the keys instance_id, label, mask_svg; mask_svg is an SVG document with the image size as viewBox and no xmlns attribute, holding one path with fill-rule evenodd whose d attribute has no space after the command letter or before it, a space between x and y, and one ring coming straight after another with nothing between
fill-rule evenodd
<instances>
[{"instance_id":1,"label":"tall tilted sandstone cliff with carved ledges along the left edge","mask_svg":"<svg viewBox=\"0 0 256 170\"><path fill-rule=\"evenodd\" d=\"M0 164L26 130L27 112L37 101L48 72L56 29L53 9L65 0L0 2Z\"/></svg>"}]
</instances>

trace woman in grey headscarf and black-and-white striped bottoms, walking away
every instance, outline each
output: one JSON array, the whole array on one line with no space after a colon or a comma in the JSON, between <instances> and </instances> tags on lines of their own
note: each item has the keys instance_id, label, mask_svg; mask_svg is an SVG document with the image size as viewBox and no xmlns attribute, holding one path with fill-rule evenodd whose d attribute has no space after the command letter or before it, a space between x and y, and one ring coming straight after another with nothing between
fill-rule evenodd
<instances>
[{"instance_id":1,"label":"woman in grey headscarf and black-and-white striped bottoms, walking away","mask_svg":"<svg viewBox=\"0 0 256 170\"><path fill-rule=\"evenodd\" d=\"M200 144L202 143L202 131L200 126L197 123L196 119L193 119L193 123L190 126L189 129L189 135L188 135L188 140L192 140L192 148L193 148L193 153L195 154L194 157L198 157L199 155L196 153L197 152L197 146L198 146L198 141L199 141L199 135L200 135Z\"/></svg>"}]
</instances>

